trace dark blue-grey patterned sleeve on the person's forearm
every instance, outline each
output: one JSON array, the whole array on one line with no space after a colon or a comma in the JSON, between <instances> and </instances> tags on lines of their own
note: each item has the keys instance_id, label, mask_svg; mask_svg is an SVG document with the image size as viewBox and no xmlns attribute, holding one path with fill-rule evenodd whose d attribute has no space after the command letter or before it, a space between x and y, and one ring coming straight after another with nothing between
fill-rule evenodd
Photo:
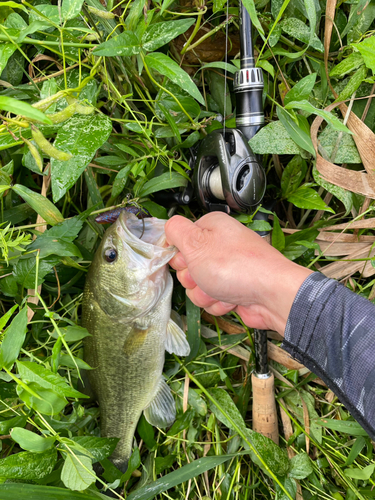
<instances>
[{"instance_id":1,"label":"dark blue-grey patterned sleeve on the person's forearm","mask_svg":"<svg viewBox=\"0 0 375 500\"><path fill-rule=\"evenodd\" d=\"M289 314L282 347L318 375L375 438L375 305L311 274Z\"/></svg>"}]
</instances>

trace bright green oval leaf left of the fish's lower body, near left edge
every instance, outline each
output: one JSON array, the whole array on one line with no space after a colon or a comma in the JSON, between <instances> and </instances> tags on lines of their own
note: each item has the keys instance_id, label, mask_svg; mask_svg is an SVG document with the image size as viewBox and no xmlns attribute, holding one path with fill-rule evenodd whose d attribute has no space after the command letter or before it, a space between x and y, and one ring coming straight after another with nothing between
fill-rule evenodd
<instances>
[{"instance_id":1,"label":"bright green oval leaf left of the fish's lower body, near left edge","mask_svg":"<svg viewBox=\"0 0 375 500\"><path fill-rule=\"evenodd\" d=\"M27 382L27 388L17 386L17 394L33 410L43 415L57 415L60 413L68 401L51 389L46 389L36 382Z\"/></svg>"}]
</instances>

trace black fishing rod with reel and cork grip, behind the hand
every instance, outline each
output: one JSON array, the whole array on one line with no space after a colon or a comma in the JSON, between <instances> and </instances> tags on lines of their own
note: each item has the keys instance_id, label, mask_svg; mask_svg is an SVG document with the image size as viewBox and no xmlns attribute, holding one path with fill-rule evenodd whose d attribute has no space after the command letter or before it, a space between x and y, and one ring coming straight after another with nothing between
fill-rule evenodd
<instances>
[{"instance_id":1,"label":"black fishing rod with reel and cork grip, behind the hand","mask_svg":"<svg viewBox=\"0 0 375 500\"><path fill-rule=\"evenodd\" d=\"M240 70L234 76L236 127L210 132L190 158L192 185L180 192L160 192L156 201L165 205L187 205L193 196L207 211L251 213L262 202L266 175L261 158L249 140L264 125L263 72L255 67L252 22L242 1L240 14ZM225 113L224 113L225 114ZM257 212L255 218L267 220ZM258 232L270 243L267 231ZM268 367L267 332L254 330L255 371L252 374L253 428L279 441L274 376Z\"/></svg>"}]
</instances>

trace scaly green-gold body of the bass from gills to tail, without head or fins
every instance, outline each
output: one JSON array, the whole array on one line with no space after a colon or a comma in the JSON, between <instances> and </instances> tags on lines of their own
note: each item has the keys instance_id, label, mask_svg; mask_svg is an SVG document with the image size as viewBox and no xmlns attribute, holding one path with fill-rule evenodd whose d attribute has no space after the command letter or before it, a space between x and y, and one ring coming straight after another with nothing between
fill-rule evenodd
<instances>
[{"instance_id":1,"label":"scaly green-gold body of the bass from gills to tail, without head or fins","mask_svg":"<svg viewBox=\"0 0 375 500\"><path fill-rule=\"evenodd\" d=\"M93 368L89 381L100 406L102 436L120 438L111 461L123 471L138 420L162 377L170 292L166 290L148 315L131 323L114 321L94 297L85 298L83 326L91 334L85 339L85 360Z\"/></svg>"}]
</instances>

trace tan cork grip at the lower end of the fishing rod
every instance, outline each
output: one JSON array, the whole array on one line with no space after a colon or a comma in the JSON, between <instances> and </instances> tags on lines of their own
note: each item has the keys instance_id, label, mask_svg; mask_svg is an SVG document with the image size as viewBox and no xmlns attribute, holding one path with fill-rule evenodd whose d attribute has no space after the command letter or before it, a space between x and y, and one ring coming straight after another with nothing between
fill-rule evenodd
<instances>
[{"instance_id":1,"label":"tan cork grip at the lower end of the fishing rod","mask_svg":"<svg viewBox=\"0 0 375 500\"><path fill-rule=\"evenodd\" d=\"M274 376L262 379L252 374L253 430L279 444Z\"/></svg>"}]
</instances>

